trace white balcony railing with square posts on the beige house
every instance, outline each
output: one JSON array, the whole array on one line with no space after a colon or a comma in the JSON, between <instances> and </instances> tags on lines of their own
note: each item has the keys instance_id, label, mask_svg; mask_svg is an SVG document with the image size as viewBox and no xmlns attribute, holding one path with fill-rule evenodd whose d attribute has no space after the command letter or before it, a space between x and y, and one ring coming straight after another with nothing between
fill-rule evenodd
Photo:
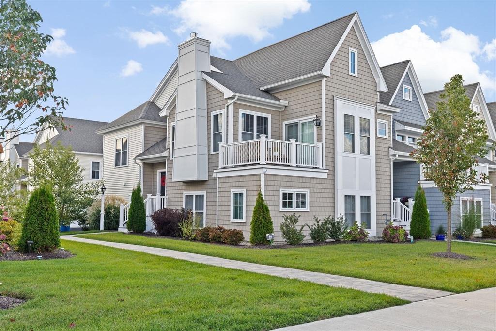
<instances>
[{"instance_id":1,"label":"white balcony railing with square posts on the beige house","mask_svg":"<svg viewBox=\"0 0 496 331\"><path fill-rule=\"evenodd\" d=\"M219 145L219 168L254 164L291 167L322 167L322 143L308 144L295 139L276 140L261 135L259 139Z\"/></svg>"}]
</instances>

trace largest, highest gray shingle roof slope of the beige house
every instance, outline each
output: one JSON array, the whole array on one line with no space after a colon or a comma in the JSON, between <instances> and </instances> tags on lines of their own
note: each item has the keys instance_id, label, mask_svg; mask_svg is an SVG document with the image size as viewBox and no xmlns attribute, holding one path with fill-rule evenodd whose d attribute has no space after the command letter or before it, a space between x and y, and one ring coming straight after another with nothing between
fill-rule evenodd
<instances>
[{"instance_id":1,"label":"largest, highest gray shingle roof slope of the beige house","mask_svg":"<svg viewBox=\"0 0 496 331\"><path fill-rule=\"evenodd\" d=\"M256 87L320 71L354 15L355 12L269 45L233 63Z\"/></svg>"}]
</instances>

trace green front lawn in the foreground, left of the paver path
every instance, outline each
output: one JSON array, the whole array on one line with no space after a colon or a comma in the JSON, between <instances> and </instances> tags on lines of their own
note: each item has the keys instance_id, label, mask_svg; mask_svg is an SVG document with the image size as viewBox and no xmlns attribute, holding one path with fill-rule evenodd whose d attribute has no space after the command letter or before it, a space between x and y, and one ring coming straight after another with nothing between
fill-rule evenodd
<instances>
[{"instance_id":1,"label":"green front lawn in the foreground, left of the paver path","mask_svg":"<svg viewBox=\"0 0 496 331\"><path fill-rule=\"evenodd\" d=\"M268 330L398 298L62 240L76 257L0 262L0 330ZM11 322L11 320L13 322Z\"/></svg>"}]
</instances>

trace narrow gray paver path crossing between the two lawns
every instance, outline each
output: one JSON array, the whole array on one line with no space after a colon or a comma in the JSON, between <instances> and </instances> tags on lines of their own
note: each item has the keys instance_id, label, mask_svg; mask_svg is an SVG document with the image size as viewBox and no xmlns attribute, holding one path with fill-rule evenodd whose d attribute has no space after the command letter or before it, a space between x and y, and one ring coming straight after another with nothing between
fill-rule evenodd
<instances>
[{"instance_id":1,"label":"narrow gray paver path crossing between the two lawns","mask_svg":"<svg viewBox=\"0 0 496 331\"><path fill-rule=\"evenodd\" d=\"M228 259L216 258L216 257L205 256L194 253L179 252L164 248L155 248L148 246L113 243L108 241L79 238L79 237L74 237L74 235L63 236L62 240L70 240L79 243L120 248L124 250L143 252L143 253L148 253L148 254L153 254L153 255L178 259L178 260L201 263L205 265L215 265L230 269L238 269L238 270L245 270L256 273L262 273L271 276L299 279L299 280L310 281L317 284L323 284L323 285L329 285L335 287L353 288L371 293L384 293L411 302L433 299L433 298L438 298L453 294L451 292L431 290L421 287L389 284L380 281L285 268L281 266L259 265L255 263L228 260Z\"/></svg>"}]
</instances>

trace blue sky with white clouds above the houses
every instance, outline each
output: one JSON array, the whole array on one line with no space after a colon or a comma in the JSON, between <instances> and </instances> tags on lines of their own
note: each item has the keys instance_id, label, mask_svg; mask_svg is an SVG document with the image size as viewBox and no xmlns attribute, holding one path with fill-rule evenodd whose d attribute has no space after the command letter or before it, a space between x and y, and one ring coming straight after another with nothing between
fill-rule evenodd
<instances>
[{"instance_id":1,"label":"blue sky with white clouds above the houses","mask_svg":"<svg viewBox=\"0 0 496 331\"><path fill-rule=\"evenodd\" d=\"M380 66L412 60L424 92L456 73L496 100L496 1L28 1L54 37L66 117L110 122L150 98L190 32L235 60L358 11Z\"/></svg>"}]
</instances>

